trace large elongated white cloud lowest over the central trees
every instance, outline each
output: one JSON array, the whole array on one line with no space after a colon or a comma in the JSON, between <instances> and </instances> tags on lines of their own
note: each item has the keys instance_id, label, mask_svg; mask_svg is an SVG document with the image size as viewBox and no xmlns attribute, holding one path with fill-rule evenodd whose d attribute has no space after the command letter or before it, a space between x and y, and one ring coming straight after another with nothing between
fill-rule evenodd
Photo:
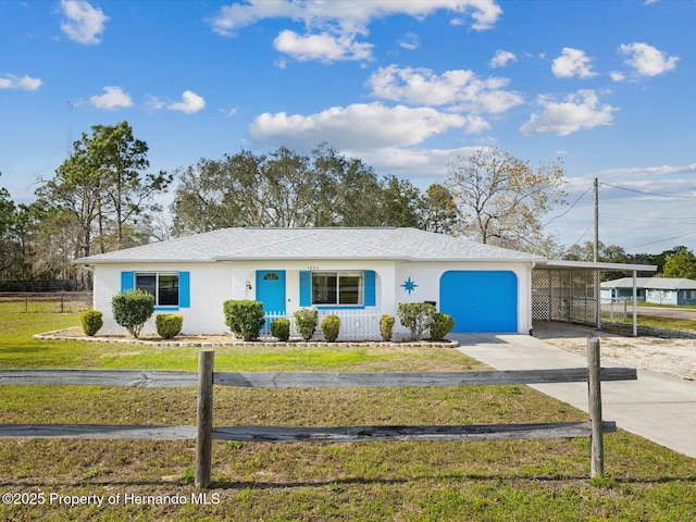
<instances>
[{"instance_id":1,"label":"large elongated white cloud lowest over the central trees","mask_svg":"<svg viewBox=\"0 0 696 522\"><path fill-rule=\"evenodd\" d=\"M418 145L450 128L465 129L469 123L461 115L431 108L387 108L375 102L334 107L307 116L264 113L251 123L249 133L263 145L307 149L327 141L340 149L368 150Z\"/></svg>"}]
</instances>

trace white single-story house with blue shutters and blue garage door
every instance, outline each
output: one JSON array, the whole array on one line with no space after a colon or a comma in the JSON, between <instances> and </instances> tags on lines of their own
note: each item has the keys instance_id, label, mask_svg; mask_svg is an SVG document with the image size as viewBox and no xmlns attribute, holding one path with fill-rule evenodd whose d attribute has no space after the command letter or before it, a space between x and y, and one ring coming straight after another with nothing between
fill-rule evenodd
<instances>
[{"instance_id":1,"label":"white single-story house with blue shutters and blue garage door","mask_svg":"<svg viewBox=\"0 0 696 522\"><path fill-rule=\"evenodd\" d=\"M314 307L341 316L340 338L380 338L382 314L431 301L455 332L532 328L531 273L542 258L415 228L225 228L84 258L103 333L121 290L156 296L184 315L184 333L228 332L223 302L256 299L269 321ZM321 315L320 315L321 316ZM154 331L154 318L146 332ZM406 330L397 322L397 333Z\"/></svg>"}]
</instances>

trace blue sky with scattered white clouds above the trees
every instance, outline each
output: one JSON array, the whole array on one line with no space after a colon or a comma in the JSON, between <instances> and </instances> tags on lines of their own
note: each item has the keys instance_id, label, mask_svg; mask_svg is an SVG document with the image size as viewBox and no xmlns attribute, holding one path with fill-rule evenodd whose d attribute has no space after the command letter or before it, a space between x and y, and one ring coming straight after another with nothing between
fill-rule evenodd
<instances>
[{"instance_id":1,"label":"blue sky with scattered white clouds above the trees","mask_svg":"<svg viewBox=\"0 0 696 522\"><path fill-rule=\"evenodd\" d=\"M0 2L0 185L128 121L151 171L327 141L421 189L498 147L563 160L570 246L696 250L696 2ZM582 197L581 197L582 196ZM580 198L580 199L579 199Z\"/></svg>"}]
</instances>

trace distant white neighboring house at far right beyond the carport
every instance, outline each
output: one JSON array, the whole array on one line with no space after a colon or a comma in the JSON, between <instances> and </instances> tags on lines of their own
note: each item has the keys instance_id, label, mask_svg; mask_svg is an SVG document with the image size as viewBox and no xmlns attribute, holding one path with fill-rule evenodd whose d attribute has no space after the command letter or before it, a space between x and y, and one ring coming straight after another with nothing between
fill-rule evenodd
<instances>
[{"instance_id":1,"label":"distant white neighboring house at far right beyond the carport","mask_svg":"<svg viewBox=\"0 0 696 522\"><path fill-rule=\"evenodd\" d=\"M696 304L696 281L675 277L636 277L638 301L657 304ZM633 278L601 283L602 300L626 300L633 297Z\"/></svg>"}]
</instances>

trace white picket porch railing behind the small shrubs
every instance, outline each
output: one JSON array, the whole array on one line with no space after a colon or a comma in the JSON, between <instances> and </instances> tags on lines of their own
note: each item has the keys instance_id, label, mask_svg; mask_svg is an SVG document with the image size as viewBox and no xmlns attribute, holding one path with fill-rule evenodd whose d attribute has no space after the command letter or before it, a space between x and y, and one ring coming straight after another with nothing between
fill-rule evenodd
<instances>
[{"instance_id":1,"label":"white picket porch railing behind the small shrubs","mask_svg":"<svg viewBox=\"0 0 696 522\"><path fill-rule=\"evenodd\" d=\"M323 339L321 325L326 315L338 315L340 318L340 331L337 340L380 340L380 318L378 310L319 310L319 322L314 339ZM295 327L295 318L291 313L269 312L264 316L265 323L261 328L261 337L271 337L271 323L275 319L287 319L290 321L290 338L299 337Z\"/></svg>"}]
</instances>

